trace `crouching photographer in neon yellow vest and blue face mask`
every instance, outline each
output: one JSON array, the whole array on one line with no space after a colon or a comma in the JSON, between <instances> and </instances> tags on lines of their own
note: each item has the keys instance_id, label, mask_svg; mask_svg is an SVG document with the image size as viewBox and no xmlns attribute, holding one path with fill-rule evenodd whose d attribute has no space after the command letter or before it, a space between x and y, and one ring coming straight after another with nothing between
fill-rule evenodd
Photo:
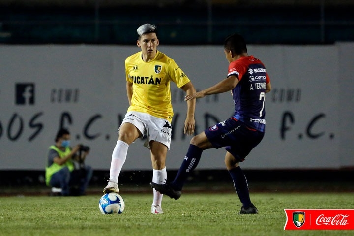
<instances>
[{"instance_id":1,"label":"crouching photographer in neon yellow vest and blue face mask","mask_svg":"<svg viewBox=\"0 0 354 236\"><path fill-rule=\"evenodd\" d=\"M60 129L55 145L49 147L45 170L46 184L52 187L52 193L62 196L85 195L92 177L92 169L84 164L89 147L78 144L70 147L70 133ZM75 163L78 167L75 167ZM57 191L53 191L56 189Z\"/></svg>"}]
</instances>

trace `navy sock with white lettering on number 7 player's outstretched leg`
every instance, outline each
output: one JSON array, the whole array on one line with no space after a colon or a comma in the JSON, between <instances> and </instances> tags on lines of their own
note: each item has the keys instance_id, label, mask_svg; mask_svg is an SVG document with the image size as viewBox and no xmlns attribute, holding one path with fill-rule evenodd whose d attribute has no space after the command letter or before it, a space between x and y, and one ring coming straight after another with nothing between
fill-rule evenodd
<instances>
[{"instance_id":1,"label":"navy sock with white lettering on number 7 player's outstretched leg","mask_svg":"<svg viewBox=\"0 0 354 236\"><path fill-rule=\"evenodd\" d=\"M202 148L199 148L193 144L189 145L187 154L179 167L175 180L171 182L172 187L175 190L182 190L184 182L187 180L189 173L192 172L198 165L198 162L202 156Z\"/></svg>"}]
</instances>

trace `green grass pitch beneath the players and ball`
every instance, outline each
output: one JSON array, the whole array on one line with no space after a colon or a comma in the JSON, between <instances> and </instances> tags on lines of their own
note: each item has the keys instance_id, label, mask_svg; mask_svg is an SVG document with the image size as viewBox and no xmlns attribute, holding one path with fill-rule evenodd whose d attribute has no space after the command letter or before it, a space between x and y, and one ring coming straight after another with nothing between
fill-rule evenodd
<instances>
[{"instance_id":1,"label":"green grass pitch beneath the players and ball","mask_svg":"<svg viewBox=\"0 0 354 236\"><path fill-rule=\"evenodd\" d=\"M236 193L164 197L164 214L150 213L152 195L121 194L121 215L103 215L101 194L81 197L0 197L0 236L345 236L354 231L285 231L284 208L354 208L353 193L251 193L258 215L239 215Z\"/></svg>"}]
</instances>

